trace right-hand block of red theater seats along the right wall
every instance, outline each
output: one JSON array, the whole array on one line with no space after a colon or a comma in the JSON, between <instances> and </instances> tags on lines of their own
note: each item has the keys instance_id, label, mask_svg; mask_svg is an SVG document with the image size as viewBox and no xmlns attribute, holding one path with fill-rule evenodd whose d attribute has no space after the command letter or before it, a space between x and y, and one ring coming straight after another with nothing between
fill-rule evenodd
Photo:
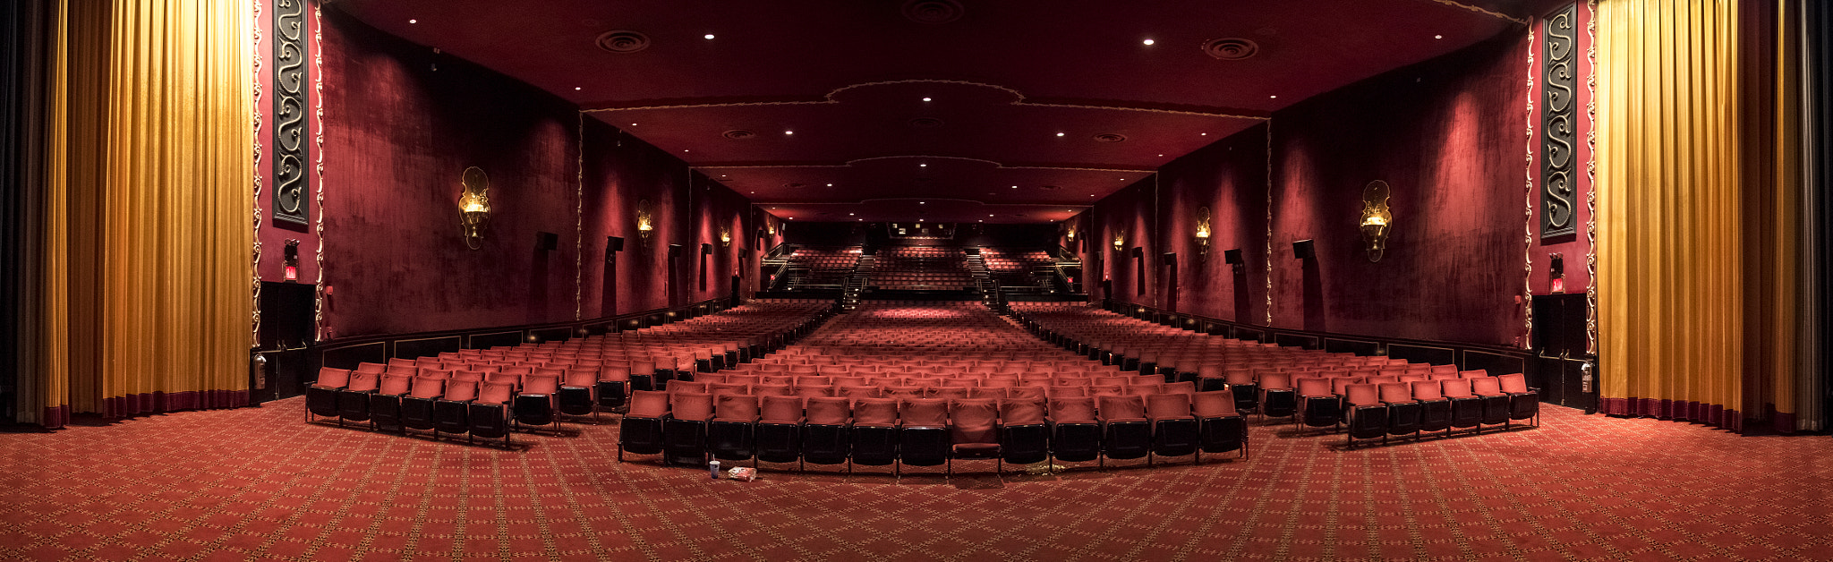
<instances>
[{"instance_id":1,"label":"right-hand block of red theater seats along the right wall","mask_svg":"<svg viewBox=\"0 0 1833 562\"><path fill-rule=\"evenodd\" d=\"M1234 390L1235 406L1294 425L1349 425L1347 443L1389 436L1426 436L1485 425L1538 427L1540 397L1521 373L1490 377L1450 364L1408 364L1316 350L1279 350L1166 328L1089 306L1017 304L1021 324L1037 337L1122 370L1195 381L1199 390ZM1127 337L1136 330L1138 337ZM1091 344L1081 339L1098 339ZM1107 348L1102 348L1107 346Z\"/></svg>"}]
</instances>

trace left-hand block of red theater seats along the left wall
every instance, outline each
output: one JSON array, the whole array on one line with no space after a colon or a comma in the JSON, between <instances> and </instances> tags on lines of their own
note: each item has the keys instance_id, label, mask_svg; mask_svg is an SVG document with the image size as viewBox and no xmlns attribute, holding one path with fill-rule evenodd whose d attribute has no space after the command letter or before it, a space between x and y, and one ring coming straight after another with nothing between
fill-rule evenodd
<instances>
[{"instance_id":1,"label":"left-hand block of red theater seats along the left wall","mask_svg":"<svg viewBox=\"0 0 1833 562\"><path fill-rule=\"evenodd\" d=\"M794 317L794 322L750 322L744 330L728 322L759 309ZM370 428L403 434L433 430L434 438L462 434L467 441L500 438L508 447L513 425L559 427L561 416L618 410L631 386L647 390L676 373L691 377L695 368L713 370L728 359L733 364L748 361L814 330L825 315L825 306L810 302L763 302L735 308L726 319L715 315L680 322L691 326L620 333L618 340L592 337L552 346L445 351L438 357L390 359L389 364L361 362L356 370L326 366L306 388L306 419L337 417L339 425L368 423ZM687 344L704 342L700 331L708 330L768 344ZM755 333L763 330L777 333ZM632 350L631 340L645 344ZM632 361L629 353L640 359ZM651 353L664 355L658 361Z\"/></svg>"}]
</instances>

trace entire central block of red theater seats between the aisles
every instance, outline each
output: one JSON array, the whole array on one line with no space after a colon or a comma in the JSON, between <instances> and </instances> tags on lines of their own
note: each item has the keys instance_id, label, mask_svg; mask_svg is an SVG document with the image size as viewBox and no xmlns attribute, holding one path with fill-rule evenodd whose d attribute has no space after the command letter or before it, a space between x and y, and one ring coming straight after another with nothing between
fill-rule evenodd
<instances>
[{"instance_id":1,"label":"entire central block of red theater seats between the aisles","mask_svg":"<svg viewBox=\"0 0 1833 562\"><path fill-rule=\"evenodd\" d=\"M977 302L865 304L764 361L665 388L632 394L620 459L951 472L957 458L1001 469L1248 449L1228 392L1122 375L1041 344Z\"/></svg>"}]
</instances>

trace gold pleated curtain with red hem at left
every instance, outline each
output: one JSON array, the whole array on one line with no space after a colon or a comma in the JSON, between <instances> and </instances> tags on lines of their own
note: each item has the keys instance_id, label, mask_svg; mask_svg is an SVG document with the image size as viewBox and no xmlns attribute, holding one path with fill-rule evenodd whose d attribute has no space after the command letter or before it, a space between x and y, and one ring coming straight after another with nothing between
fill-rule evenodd
<instances>
[{"instance_id":1,"label":"gold pleated curtain with red hem at left","mask_svg":"<svg viewBox=\"0 0 1833 562\"><path fill-rule=\"evenodd\" d=\"M251 18L246 0L60 2L40 423L247 403Z\"/></svg>"}]
</instances>

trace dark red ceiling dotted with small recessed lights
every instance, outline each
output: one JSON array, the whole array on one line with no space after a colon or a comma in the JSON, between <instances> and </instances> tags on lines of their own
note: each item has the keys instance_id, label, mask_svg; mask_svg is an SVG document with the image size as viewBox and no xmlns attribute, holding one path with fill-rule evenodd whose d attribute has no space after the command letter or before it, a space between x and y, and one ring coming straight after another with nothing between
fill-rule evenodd
<instances>
[{"instance_id":1,"label":"dark red ceiling dotted with small recessed lights","mask_svg":"<svg viewBox=\"0 0 1833 562\"><path fill-rule=\"evenodd\" d=\"M785 218L1019 223L1063 220L1279 108L1556 4L337 5L577 103Z\"/></svg>"}]
</instances>

